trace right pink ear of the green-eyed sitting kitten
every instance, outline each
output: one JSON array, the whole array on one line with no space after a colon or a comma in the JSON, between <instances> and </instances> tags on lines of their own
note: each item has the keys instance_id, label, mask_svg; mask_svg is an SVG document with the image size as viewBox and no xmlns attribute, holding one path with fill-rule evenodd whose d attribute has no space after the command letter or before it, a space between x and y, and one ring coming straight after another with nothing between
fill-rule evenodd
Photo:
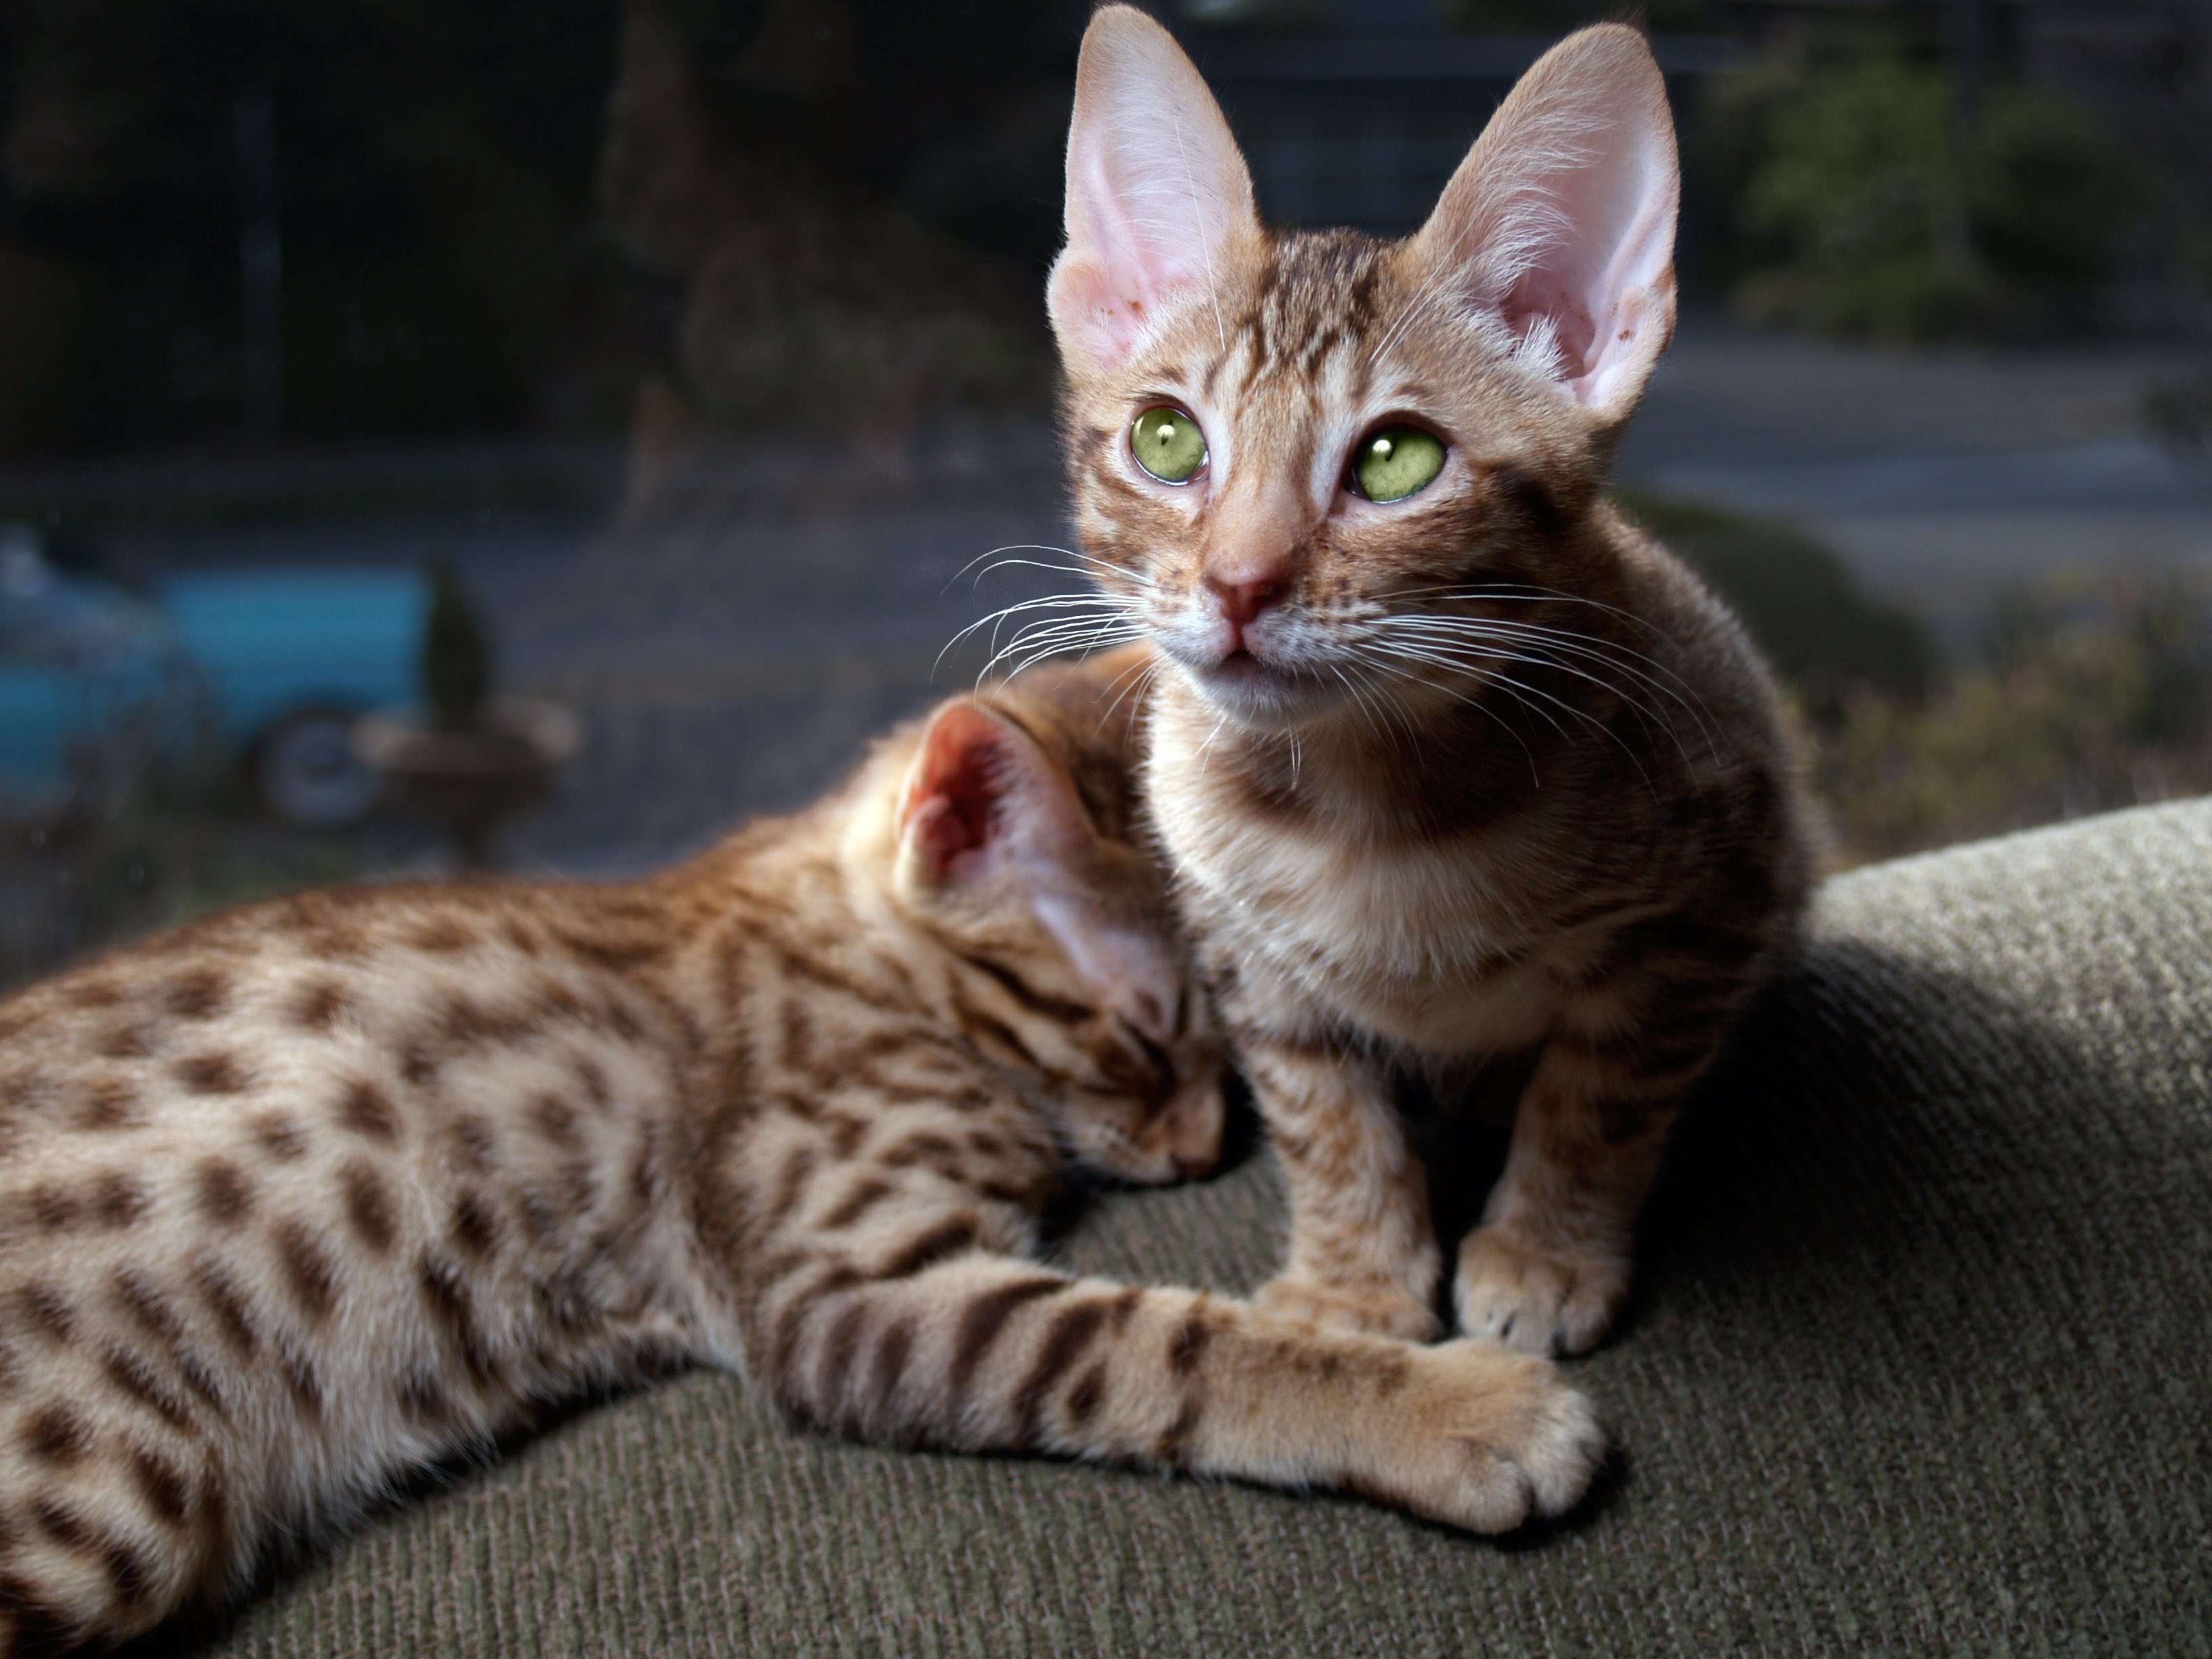
<instances>
[{"instance_id":1,"label":"right pink ear of the green-eyed sitting kitten","mask_svg":"<svg viewBox=\"0 0 2212 1659\"><path fill-rule=\"evenodd\" d=\"M1608 425L1626 420L1674 330L1681 173L1644 35L1599 24L1522 75L1416 237L1458 265L1528 363Z\"/></svg>"}]
</instances>

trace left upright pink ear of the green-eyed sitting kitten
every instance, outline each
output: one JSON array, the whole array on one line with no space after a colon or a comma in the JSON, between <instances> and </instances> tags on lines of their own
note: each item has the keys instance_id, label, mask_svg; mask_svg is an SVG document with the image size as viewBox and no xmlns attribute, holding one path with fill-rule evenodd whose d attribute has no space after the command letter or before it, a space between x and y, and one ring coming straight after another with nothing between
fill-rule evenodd
<instances>
[{"instance_id":1,"label":"left upright pink ear of the green-eyed sitting kitten","mask_svg":"<svg viewBox=\"0 0 2212 1659\"><path fill-rule=\"evenodd\" d=\"M1175 38L1106 7L1084 31L1068 124L1068 246L1046 307L1060 349L1104 372L1152 316L1214 288L1234 241L1259 232L1252 175Z\"/></svg>"}]
</instances>

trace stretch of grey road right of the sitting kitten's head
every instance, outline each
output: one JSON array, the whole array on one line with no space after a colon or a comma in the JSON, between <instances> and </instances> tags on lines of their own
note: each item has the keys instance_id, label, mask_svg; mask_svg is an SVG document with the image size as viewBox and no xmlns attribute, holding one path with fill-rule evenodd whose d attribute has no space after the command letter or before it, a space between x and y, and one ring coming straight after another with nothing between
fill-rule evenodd
<instances>
[{"instance_id":1,"label":"stretch of grey road right of the sitting kitten's head","mask_svg":"<svg viewBox=\"0 0 2212 1659\"><path fill-rule=\"evenodd\" d=\"M2212 580L2212 476L2141 427L2172 349L1867 352L1688 319L1621 451L1652 489L1794 518L1938 619L2112 562Z\"/></svg>"}]
</instances>

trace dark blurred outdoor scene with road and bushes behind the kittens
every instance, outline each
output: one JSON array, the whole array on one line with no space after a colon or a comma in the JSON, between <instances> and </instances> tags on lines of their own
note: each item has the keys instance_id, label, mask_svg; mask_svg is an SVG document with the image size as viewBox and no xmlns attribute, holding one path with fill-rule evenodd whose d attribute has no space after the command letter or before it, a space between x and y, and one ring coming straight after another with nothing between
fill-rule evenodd
<instances>
[{"instance_id":1,"label":"dark blurred outdoor scene with road and bushes behind the kittens","mask_svg":"<svg viewBox=\"0 0 2212 1659\"><path fill-rule=\"evenodd\" d=\"M1376 232L1641 15L1683 319L1621 493L1783 668L1840 858L2212 790L2212 0L1157 11L1263 212ZM971 681L962 624L1075 586L975 571L1068 544L1086 13L0 9L0 982L456 845L639 869ZM422 699L575 754L403 810L347 723Z\"/></svg>"}]
</instances>

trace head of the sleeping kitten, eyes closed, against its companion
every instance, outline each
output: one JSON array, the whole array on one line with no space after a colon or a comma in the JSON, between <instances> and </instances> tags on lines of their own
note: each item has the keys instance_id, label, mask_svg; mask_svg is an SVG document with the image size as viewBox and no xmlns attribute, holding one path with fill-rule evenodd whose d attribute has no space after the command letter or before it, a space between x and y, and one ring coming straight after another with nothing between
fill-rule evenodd
<instances>
[{"instance_id":1,"label":"head of the sleeping kitten, eyes closed, against its companion","mask_svg":"<svg viewBox=\"0 0 2212 1659\"><path fill-rule=\"evenodd\" d=\"M978 1046L1031 1057L1011 1071L1068 1150L1175 1181L1221 1157L1223 1044L1166 878L1128 838L1104 699L1091 708L1068 719L1015 681L942 703L898 743L889 894L993 987L989 1009L964 1000Z\"/></svg>"}]
</instances>

